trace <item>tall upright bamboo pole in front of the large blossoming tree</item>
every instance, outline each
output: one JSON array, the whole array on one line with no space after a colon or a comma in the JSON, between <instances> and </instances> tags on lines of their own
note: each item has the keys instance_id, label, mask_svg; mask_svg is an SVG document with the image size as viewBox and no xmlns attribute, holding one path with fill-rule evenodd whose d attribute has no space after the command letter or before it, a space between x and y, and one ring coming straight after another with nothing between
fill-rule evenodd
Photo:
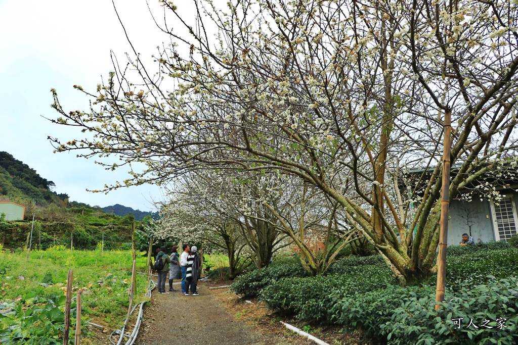
<instances>
[{"instance_id":1,"label":"tall upright bamboo pole in front of the large blossoming tree","mask_svg":"<svg viewBox=\"0 0 518 345\"><path fill-rule=\"evenodd\" d=\"M451 110L444 114L444 147L442 153L442 199L439 224L439 255L437 256L437 289L435 310L444 301L444 280L446 277L446 250L448 246L448 215L450 211L450 155L451 155Z\"/></svg>"}]
</instances>

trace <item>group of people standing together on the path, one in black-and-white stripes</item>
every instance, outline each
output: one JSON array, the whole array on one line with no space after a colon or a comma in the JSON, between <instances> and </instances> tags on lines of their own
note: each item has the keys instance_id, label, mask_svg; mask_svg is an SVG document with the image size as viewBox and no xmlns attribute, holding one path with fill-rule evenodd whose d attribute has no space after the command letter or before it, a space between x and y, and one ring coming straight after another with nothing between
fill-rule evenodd
<instances>
[{"instance_id":1,"label":"group of people standing together on the path, one in black-and-white stripes","mask_svg":"<svg viewBox=\"0 0 518 345\"><path fill-rule=\"evenodd\" d=\"M178 246L171 248L171 256L169 257L166 253L165 247L160 247L159 253L156 254L157 259L164 261L164 268L157 271L158 274L158 290L159 293L169 293L165 291L165 280L167 272L169 272L169 291L177 291L172 288L172 281L174 279L182 279L182 294L189 296L191 291L193 296L199 295L196 291L198 280L202 273L202 260L197 254L198 248L188 244L182 246L182 253L178 255Z\"/></svg>"}]
</instances>

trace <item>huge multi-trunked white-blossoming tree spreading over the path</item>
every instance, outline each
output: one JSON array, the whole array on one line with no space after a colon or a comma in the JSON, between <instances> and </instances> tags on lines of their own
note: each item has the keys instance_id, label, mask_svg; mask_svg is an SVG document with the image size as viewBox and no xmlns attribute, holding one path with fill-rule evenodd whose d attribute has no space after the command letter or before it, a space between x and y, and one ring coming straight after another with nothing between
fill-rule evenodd
<instances>
[{"instance_id":1,"label":"huge multi-trunked white-blossoming tree spreading over the path","mask_svg":"<svg viewBox=\"0 0 518 345\"><path fill-rule=\"evenodd\" d=\"M156 73L135 56L139 81L111 73L87 92L87 112L65 111L54 91L54 122L90 133L51 138L57 151L146 164L105 190L194 169L277 170L336 201L401 284L412 284L430 274L438 244L442 117L452 118L452 198L516 167L514 2L193 4L191 22L163 1L165 18L189 35L164 24L172 43ZM411 168L433 171L422 193L398 188Z\"/></svg>"}]
</instances>

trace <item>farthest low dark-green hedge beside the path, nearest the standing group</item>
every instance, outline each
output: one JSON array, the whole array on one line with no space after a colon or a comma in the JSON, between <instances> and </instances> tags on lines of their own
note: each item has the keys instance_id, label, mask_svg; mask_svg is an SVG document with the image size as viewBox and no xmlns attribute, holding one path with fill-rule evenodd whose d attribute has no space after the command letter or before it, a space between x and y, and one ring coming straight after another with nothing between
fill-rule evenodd
<instances>
[{"instance_id":1,"label":"farthest low dark-green hedge beside the path, nearest the standing group","mask_svg":"<svg viewBox=\"0 0 518 345\"><path fill-rule=\"evenodd\" d=\"M280 278L305 275L304 268L297 258L285 258L237 277L231 289L239 295L256 296L261 289Z\"/></svg>"}]
</instances>

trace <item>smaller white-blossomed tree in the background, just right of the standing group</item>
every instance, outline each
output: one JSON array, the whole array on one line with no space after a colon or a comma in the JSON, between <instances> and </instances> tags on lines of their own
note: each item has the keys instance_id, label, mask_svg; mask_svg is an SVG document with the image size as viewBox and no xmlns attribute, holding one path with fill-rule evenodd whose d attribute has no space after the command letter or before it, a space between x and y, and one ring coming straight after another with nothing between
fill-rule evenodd
<instances>
[{"instance_id":1,"label":"smaller white-blossomed tree in the background, just right of the standing group","mask_svg":"<svg viewBox=\"0 0 518 345\"><path fill-rule=\"evenodd\" d=\"M176 219L175 226L163 229L164 234L189 224L186 232L204 229L204 238L229 251L229 259L243 252L258 268L268 265L272 254L289 243L277 229L275 217L258 199L263 194L256 188L258 184L250 184L255 193L251 196L243 188L247 183L217 171L185 174L169 191L171 200L162 208L166 219ZM234 263L233 271L244 264L237 259Z\"/></svg>"}]
</instances>

